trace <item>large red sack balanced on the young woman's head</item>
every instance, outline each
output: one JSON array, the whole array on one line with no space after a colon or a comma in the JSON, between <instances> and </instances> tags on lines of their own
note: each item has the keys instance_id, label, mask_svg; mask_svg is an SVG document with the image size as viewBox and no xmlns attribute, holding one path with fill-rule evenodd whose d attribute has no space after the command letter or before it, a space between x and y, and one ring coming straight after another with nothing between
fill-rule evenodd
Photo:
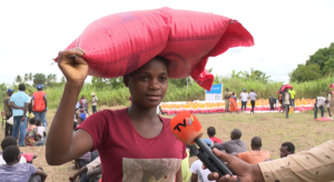
<instances>
[{"instance_id":1,"label":"large red sack balanced on the young woman's head","mask_svg":"<svg viewBox=\"0 0 334 182\"><path fill-rule=\"evenodd\" d=\"M125 75L161 55L169 61L169 78L191 75L210 90L214 77L205 71L208 57L233 47L250 46L254 46L252 34L236 20L161 8L98 19L67 49L82 48L89 74L100 78Z\"/></svg>"}]
</instances>

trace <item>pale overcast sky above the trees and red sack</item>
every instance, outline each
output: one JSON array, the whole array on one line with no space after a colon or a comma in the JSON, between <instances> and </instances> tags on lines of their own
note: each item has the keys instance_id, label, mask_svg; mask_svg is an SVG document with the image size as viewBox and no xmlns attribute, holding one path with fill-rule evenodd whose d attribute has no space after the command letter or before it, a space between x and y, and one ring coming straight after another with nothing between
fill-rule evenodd
<instances>
[{"instance_id":1,"label":"pale overcast sky above the trees and red sack","mask_svg":"<svg viewBox=\"0 0 334 182\"><path fill-rule=\"evenodd\" d=\"M60 80L52 58L90 22L117 12L161 7L228 17L252 33L254 47L233 48L209 59L206 68L214 68L214 74L254 68L274 81L288 81L288 72L297 64L334 42L332 0L1 0L0 83L12 83L18 74L29 72L56 73Z\"/></svg>"}]
</instances>

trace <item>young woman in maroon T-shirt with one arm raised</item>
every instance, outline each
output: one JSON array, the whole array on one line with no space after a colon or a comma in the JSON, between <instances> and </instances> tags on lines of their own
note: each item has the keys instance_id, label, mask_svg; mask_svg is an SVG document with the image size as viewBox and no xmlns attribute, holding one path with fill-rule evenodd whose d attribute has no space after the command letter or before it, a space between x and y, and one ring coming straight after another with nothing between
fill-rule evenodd
<instances>
[{"instance_id":1,"label":"young woman in maroon T-shirt with one arm raised","mask_svg":"<svg viewBox=\"0 0 334 182\"><path fill-rule=\"evenodd\" d=\"M186 145L173 134L170 119L156 113L168 88L168 61L156 57L125 75L124 83L129 88L131 105L118 111L97 112L86 119L75 134L70 134L72 108L89 70L84 54L82 49L75 48L60 52L58 57L58 65L67 82L48 134L48 163L60 165L82 153L98 150L102 169L107 171L102 174L102 182L161 179L181 182L180 165L187 156Z\"/></svg>"}]
</instances>

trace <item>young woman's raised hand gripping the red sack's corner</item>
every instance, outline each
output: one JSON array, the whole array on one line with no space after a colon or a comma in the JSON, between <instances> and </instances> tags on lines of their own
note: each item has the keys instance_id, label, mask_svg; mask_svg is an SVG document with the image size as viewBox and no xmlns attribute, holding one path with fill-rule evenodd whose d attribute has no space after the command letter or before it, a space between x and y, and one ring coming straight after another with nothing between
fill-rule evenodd
<instances>
[{"instance_id":1,"label":"young woman's raised hand gripping the red sack's corner","mask_svg":"<svg viewBox=\"0 0 334 182\"><path fill-rule=\"evenodd\" d=\"M88 74L88 64L84 60L86 52L81 48L65 50L59 53L58 67L68 82L84 83Z\"/></svg>"}]
</instances>

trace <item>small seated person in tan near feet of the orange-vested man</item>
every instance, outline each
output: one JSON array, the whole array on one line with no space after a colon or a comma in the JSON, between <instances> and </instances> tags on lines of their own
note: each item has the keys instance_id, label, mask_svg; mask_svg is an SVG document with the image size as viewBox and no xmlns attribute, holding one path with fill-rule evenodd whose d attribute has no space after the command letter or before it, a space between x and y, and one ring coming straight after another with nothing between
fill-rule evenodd
<instances>
[{"instance_id":1,"label":"small seated person in tan near feet of the orange-vested man","mask_svg":"<svg viewBox=\"0 0 334 182\"><path fill-rule=\"evenodd\" d=\"M36 119L32 118L29 120L29 125L26 132L26 145L43 145L45 141L40 140L41 136L38 134Z\"/></svg>"}]
</instances>

